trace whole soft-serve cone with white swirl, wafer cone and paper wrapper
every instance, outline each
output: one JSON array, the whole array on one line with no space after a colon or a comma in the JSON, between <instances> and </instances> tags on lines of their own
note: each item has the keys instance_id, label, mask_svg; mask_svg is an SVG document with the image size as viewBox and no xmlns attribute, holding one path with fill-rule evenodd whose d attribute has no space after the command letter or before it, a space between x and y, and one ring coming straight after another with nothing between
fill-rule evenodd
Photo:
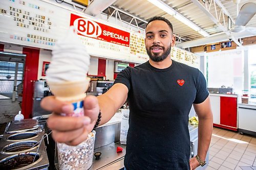
<instances>
[{"instance_id":1,"label":"whole soft-serve cone with white swirl, wafer cone and paper wrapper","mask_svg":"<svg viewBox=\"0 0 256 170\"><path fill-rule=\"evenodd\" d=\"M70 27L67 35L53 47L46 79L57 100L74 105L72 116L82 116L83 99L90 82L87 78L90 55L76 33L74 27Z\"/></svg>"}]
</instances>

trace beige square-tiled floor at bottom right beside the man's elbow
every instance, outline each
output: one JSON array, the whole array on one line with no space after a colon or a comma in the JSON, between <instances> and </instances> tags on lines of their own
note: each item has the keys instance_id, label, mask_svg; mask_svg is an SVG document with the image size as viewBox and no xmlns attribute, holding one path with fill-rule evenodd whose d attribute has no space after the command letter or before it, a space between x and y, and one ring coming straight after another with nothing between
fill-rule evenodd
<instances>
[{"instance_id":1,"label":"beige square-tiled floor at bottom right beside the man's elbow","mask_svg":"<svg viewBox=\"0 0 256 170\"><path fill-rule=\"evenodd\" d=\"M206 170L256 170L256 137L214 128Z\"/></svg>"}]
</instances>

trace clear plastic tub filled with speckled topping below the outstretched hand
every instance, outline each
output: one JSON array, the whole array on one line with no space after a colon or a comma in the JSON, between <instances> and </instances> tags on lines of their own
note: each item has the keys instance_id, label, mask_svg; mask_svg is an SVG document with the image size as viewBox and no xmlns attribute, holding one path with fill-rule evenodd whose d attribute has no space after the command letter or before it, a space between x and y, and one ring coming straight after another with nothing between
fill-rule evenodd
<instances>
[{"instance_id":1,"label":"clear plastic tub filled with speckled topping below the outstretched hand","mask_svg":"<svg viewBox=\"0 0 256 170\"><path fill-rule=\"evenodd\" d=\"M58 164L61 170L87 170L93 163L96 132L92 131L87 140L76 146L58 143Z\"/></svg>"}]
</instances>

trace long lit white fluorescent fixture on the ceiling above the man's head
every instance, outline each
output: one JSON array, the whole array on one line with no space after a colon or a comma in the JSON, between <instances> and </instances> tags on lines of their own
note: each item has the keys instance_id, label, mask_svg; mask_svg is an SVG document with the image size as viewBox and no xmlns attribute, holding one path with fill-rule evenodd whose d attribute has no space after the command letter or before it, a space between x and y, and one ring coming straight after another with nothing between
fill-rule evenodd
<instances>
[{"instance_id":1,"label":"long lit white fluorescent fixture on the ceiling above the man's head","mask_svg":"<svg viewBox=\"0 0 256 170\"><path fill-rule=\"evenodd\" d=\"M183 22L186 26L188 26L191 29L195 30L199 34L203 35L204 37L209 36L209 34L206 31L202 30L195 23L193 23L192 21L190 21L189 19L187 19L186 17L184 17L183 15L181 15L180 13L175 11L173 8L170 8L167 4L165 4L161 0L147 0L147 1L152 3L153 5L157 6L161 10L165 11L169 15L172 15L173 17L175 17L179 21Z\"/></svg>"}]
</instances>

